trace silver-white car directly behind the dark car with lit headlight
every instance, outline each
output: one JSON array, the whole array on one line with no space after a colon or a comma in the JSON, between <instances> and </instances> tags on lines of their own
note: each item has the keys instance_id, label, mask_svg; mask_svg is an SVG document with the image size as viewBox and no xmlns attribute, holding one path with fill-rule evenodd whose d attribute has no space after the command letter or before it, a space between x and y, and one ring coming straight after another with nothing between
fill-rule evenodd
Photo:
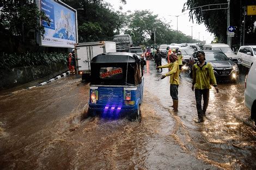
<instances>
[{"instance_id":1,"label":"silver-white car directly behind the dark car with lit headlight","mask_svg":"<svg viewBox=\"0 0 256 170\"><path fill-rule=\"evenodd\" d=\"M241 57L234 54L229 45L225 43L210 43L203 46L203 50L219 50L227 55L230 60L234 61L236 64L241 64Z\"/></svg>"}]
</instances>

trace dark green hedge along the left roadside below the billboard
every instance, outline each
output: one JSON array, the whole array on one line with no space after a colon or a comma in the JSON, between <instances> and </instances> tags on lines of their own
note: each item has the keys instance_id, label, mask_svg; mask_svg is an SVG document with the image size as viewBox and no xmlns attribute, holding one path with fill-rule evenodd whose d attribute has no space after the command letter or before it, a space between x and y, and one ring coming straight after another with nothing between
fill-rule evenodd
<instances>
[{"instance_id":1,"label":"dark green hedge along the left roadside below the billboard","mask_svg":"<svg viewBox=\"0 0 256 170\"><path fill-rule=\"evenodd\" d=\"M12 70L16 67L51 65L54 63L66 64L66 54L62 53L22 53L0 54L0 70Z\"/></svg>"}]
</instances>

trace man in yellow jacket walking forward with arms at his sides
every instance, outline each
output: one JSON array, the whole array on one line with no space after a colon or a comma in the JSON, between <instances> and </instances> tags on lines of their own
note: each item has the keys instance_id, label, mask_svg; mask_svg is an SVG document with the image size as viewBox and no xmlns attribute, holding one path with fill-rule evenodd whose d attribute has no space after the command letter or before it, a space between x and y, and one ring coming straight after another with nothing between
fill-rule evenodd
<instances>
[{"instance_id":1,"label":"man in yellow jacket walking forward with arms at his sides","mask_svg":"<svg viewBox=\"0 0 256 170\"><path fill-rule=\"evenodd\" d=\"M198 121L196 123L204 122L205 111L209 103L209 90L211 85L215 87L218 93L218 87L214 70L210 63L205 62L205 53L203 51L197 52L198 63L193 65L193 83L192 91L194 91L197 103ZM195 89L195 90L194 90ZM204 99L202 110L202 95Z\"/></svg>"}]
</instances>

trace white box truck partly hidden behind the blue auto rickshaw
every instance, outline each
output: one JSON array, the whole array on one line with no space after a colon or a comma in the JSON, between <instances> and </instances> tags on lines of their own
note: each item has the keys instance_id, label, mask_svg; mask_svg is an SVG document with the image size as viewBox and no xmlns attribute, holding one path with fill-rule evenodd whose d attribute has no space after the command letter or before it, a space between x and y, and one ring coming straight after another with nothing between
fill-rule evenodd
<instances>
[{"instance_id":1,"label":"white box truck partly hidden behind the blue auto rickshaw","mask_svg":"<svg viewBox=\"0 0 256 170\"><path fill-rule=\"evenodd\" d=\"M109 52L117 52L115 42L99 41L77 43L75 45L76 73L82 74L82 80L89 80L90 61L92 61L96 55Z\"/></svg>"}]
</instances>

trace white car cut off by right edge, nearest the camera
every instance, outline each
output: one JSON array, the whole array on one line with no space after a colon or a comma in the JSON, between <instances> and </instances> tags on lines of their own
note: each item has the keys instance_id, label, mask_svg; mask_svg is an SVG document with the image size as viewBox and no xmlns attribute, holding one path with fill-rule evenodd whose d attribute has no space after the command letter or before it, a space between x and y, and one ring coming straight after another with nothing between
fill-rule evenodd
<instances>
[{"instance_id":1,"label":"white car cut off by right edge, nearest the camera","mask_svg":"<svg viewBox=\"0 0 256 170\"><path fill-rule=\"evenodd\" d=\"M256 125L256 62L252 65L245 80L245 105L251 110L251 118Z\"/></svg>"}]
</instances>

